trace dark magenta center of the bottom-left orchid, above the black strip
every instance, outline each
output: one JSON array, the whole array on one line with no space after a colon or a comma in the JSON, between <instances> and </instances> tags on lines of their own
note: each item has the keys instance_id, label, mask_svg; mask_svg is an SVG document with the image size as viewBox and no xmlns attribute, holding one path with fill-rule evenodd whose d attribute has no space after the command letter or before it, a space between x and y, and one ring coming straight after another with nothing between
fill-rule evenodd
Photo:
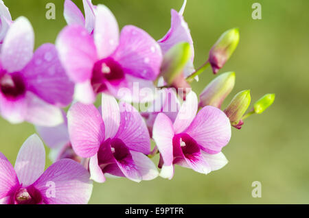
<instances>
[{"instance_id":1,"label":"dark magenta center of the bottom-left orchid, above the black strip","mask_svg":"<svg viewBox=\"0 0 309 218\"><path fill-rule=\"evenodd\" d=\"M41 193L34 187L21 188L15 193L15 204L39 204L42 201Z\"/></svg>"}]
</instances>

